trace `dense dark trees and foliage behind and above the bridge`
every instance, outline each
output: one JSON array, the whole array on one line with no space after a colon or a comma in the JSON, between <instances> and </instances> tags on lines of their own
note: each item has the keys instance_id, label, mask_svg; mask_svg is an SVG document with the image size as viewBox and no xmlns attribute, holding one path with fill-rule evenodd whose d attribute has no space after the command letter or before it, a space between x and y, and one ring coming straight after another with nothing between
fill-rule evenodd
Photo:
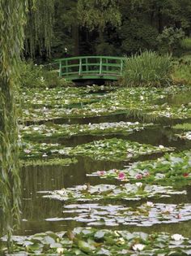
<instances>
[{"instance_id":1,"label":"dense dark trees and foliage behind and above the bridge","mask_svg":"<svg viewBox=\"0 0 191 256\"><path fill-rule=\"evenodd\" d=\"M56 0L55 7L54 58L62 57L65 47L74 56L138 50L180 55L185 52L180 40L191 28L189 0Z\"/></svg>"}]
</instances>

